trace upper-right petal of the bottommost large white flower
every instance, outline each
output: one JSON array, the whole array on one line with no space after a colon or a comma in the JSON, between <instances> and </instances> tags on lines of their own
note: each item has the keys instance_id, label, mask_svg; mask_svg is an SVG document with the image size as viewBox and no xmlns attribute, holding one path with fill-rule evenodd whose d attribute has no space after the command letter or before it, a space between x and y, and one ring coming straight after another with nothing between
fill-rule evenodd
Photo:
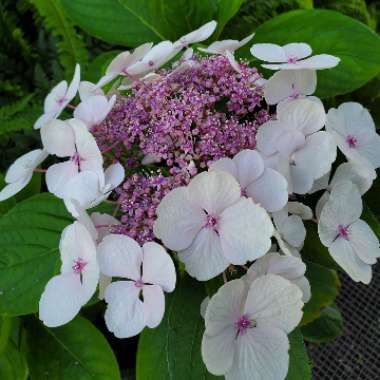
<instances>
[{"instance_id":1,"label":"upper-right petal of the bottommost large white flower","mask_svg":"<svg viewBox=\"0 0 380 380\"><path fill-rule=\"evenodd\" d=\"M298 286L274 274L259 277L250 286L244 313L257 325L268 324L291 332L302 318L302 292Z\"/></svg>"}]
</instances>

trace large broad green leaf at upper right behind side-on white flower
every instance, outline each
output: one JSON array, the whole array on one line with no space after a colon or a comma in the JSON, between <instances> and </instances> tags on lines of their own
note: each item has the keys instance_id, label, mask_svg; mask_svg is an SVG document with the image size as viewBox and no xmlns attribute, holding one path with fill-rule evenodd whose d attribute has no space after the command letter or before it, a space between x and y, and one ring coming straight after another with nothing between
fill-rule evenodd
<instances>
[{"instance_id":1,"label":"large broad green leaf at upper right behind side-on white flower","mask_svg":"<svg viewBox=\"0 0 380 380\"><path fill-rule=\"evenodd\" d=\"M317 95L322 98L352 92L380 72L379 37L361 22L335 11L284 13L256 30L253 43L259 42L280 45L306 42L314 54L339 57L341 62L337 67L318 72Z\"/></svg>"}]
</instances>

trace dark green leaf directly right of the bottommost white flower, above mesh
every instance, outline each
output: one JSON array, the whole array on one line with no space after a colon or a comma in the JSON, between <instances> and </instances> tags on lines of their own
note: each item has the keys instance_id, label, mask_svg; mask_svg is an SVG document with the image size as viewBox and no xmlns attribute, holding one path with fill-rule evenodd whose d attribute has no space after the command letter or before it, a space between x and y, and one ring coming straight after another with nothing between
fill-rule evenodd
<instances>
[{"instance_id":1,"label":"dark green leaf directly right of the bottommost white flower, above mesh","mask_svg":"<svg viewBox=\"0 0 380 380\"><path fill-rule=\"evenodd\" d=\"M311 299L303 308L301 325L317 319L323 309L335 301L340 290L340 281L335 270L310 262L305 264L305 275L311 286Z\"/></svg>"}]
</instances>

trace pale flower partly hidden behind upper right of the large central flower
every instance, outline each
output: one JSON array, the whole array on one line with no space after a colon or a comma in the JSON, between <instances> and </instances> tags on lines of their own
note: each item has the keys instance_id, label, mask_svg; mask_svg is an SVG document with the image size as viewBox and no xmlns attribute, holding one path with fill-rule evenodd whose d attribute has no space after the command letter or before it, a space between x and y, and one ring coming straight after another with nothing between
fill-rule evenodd
<instances>
[{"instance_id":1,"label":"pale flower partly hidden behind upper right of the large central flower","mask_svg":"<svg viewBox=\"0 0 380 380\"><path fill-rule=\"evenodd\" d=\"M242 150L233 159L221 158L210 168L230 173L239 182L242 195L252 198L267 211L281 210L288 202L286 179L266 168L257 151Z\"/></svg>"}]
</instances>

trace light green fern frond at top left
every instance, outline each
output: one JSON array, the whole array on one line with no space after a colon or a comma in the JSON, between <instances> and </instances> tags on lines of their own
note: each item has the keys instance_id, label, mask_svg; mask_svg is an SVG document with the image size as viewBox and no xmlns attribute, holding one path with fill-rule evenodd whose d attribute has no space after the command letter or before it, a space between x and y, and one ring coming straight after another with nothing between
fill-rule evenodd
<instances>
[{"instance_id":1,"label":"light green fern frond at top left","mask_svg":"<svg viewBox=\"0 0 380 380\"><path fill-rule=\"evenodd\" d=\"M76 63L85 67L88 53L72 22L66 17L60 0L29 0L43 17L46 28L58 38L57 49L66 77L71 78ZM103 3L104 6L104 3Z\"/></svg>"}]
</instances>

